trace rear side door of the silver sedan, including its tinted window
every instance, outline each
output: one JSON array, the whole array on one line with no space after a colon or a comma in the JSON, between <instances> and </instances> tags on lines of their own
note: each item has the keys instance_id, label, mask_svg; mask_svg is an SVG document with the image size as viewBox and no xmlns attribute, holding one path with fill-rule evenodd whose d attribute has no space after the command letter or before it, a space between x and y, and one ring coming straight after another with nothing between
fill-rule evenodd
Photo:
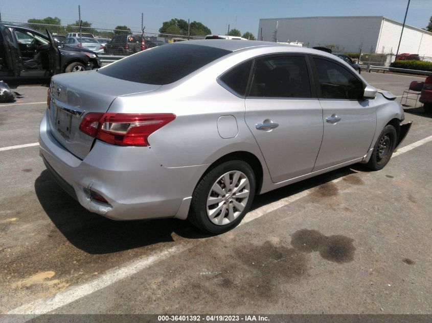
<instances>
[{"instance_id":1,"label":"rear side door of the silver sedan, including its tinted window","mask_svg":"<svg viewBox=\"0 0 432 323\"><path fill-rule=\"evenodd\" d=\"M246 97L245 120L264 156L271 180L309 173L323 137L323 111L304 55L258 58Z\"/></svg>"}]
</instances>

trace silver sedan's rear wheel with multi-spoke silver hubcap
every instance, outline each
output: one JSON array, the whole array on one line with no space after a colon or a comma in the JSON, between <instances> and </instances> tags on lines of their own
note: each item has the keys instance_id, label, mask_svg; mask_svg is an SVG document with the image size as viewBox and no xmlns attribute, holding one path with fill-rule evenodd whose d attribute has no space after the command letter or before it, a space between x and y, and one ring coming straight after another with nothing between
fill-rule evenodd
<instances>
[{"instance_id":1,"label":"silver sedan's rear wheel with multi-spoke silver hubcap","mask_svg":"<svg viewBox=\"0 0 432 323\"><path fill-rule=\"evenodd\" d=\"M228 189L225 178L230 181ZM252 167L242 160L230 160L217 165L196 185L189 221L210 234L220 234L235 228L251 208L255 183ZM236 194L241 197L236 198ZM210 199L214 203L208 205Z\"/></svg>"}]
</instances>

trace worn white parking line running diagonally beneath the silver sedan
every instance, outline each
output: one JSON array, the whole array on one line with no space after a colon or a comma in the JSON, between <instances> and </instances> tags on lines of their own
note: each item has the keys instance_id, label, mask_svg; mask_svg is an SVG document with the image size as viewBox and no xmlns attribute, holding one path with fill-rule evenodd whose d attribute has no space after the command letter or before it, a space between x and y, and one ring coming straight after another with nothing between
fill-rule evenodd
<instances>
[{"instance_id":1,"label":"worn white parking line running diagonally beneath the silver sedan","mask_svg":"<svg viewBox=\"0 0 432 323\"><path fill-rule=\"evenodd\" d=\"M398 155L404 154L430 141L432 141L432 136L416 141L410 145L404 146L400 148L396 153L394 153L392 157L396 157ZM341 181L342 179L343 178L338 178L331 182L336 183ZM311 189L304 190L297 194L293 194L288 197L285 197L282 200L255 209L247 213L246 217L242 220L240 225L244 225L245 223L255 220L263 216L264 214L267 214L271 211L274 211L290 203L293 203L297 200L300 200L300 198L307 196L308 194L310 194L310 192ZM9 311L7 314L41 315L41 314L49 313L62 306L75 302L81 299L82 297L85 297L98 290L101 290L104 287L108 287L122 279L130 277L131 275L137 274L137 272L145 268L148 268L151 265L156 264L162 260L168 259L173 255L188 250L190 247L192 247L192 245L188 246L184 244L178 244L167 250L158 252L151 256L139 258L135 261L125 264L122 267L117 267L117 268L107 270L104 274L100 275L98 278L91 280L87 283L65 288L64 290L56 293L54 296L48 297L47 299L39 299L34 302L22 305L20 307L17 307Z\"/></svg>"}]
</instances>

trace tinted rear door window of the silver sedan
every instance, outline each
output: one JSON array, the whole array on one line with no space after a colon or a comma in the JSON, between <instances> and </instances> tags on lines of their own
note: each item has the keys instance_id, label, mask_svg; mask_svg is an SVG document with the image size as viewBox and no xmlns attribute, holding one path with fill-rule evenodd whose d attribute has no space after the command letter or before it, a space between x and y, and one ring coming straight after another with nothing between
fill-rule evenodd
<instances>
[{"instance_id":1,"label":"tinted rear door window of the silver sedan","mask_svg":"<svg viewBox=\"0 0 432 323\"><path fill-rule=\"evenodd\" d=\"M250 96L311 97L309 74L303 56L257 59Z\"/></svg>"}]
</instances>

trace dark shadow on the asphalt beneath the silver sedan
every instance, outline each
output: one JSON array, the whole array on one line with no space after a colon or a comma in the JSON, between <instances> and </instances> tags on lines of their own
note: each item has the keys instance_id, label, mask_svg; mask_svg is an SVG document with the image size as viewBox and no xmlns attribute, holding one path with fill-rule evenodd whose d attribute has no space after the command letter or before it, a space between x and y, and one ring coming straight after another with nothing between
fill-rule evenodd
<instances>
[{"instance_id":1,"label":"dark shadow on the asphalt beneath the silver sedan","mask_svg":"<svg viewBox=\"0 0 432 323\"><path fill-rule=\"evenodd\" d=\"M344 167L256 196L252 210L352 173L355 171ZM116 221L89 212L58 186L48 170L40 173L34 187L40 205L56 228L75 247L88 254L109 254L172 242L173 236L186 239L210 236L184 220Z\"/></svg>"}]
</instances>

